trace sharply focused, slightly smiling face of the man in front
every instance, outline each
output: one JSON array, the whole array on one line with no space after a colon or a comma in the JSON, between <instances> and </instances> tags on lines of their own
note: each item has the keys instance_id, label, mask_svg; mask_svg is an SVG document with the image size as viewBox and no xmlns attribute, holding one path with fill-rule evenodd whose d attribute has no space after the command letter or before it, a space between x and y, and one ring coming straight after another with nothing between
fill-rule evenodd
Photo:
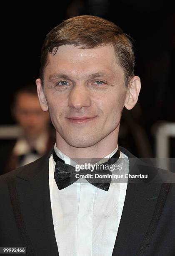
<instances>
[{"instance_id":1,"label":"sharply focused, slightly smiling face of the man in front","mask_svg":"<svg viewBox=\"0 0 175 256\"><path fill-rule=\"evenodd\" d=\"M55 55L48 56L44 96L38 83L37 87L57 138L78 148L93 146L111 134L116 138L127 90L113 46L60 46ZM72 119L78 117L91 119Z\"/></svg>"}]
</instances>

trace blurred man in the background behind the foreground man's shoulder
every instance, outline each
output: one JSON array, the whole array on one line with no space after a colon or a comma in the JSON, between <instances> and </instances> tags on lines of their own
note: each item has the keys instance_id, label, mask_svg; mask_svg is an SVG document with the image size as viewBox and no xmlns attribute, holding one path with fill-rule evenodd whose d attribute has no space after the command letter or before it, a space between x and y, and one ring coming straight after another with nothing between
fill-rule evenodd
<instances>
[{"instance_id":1,"label":"blurred man in the background behind the foreground man's shoulder","mask_svg":"<svg viewBox=\"0 0 175 256\"><path fill-rule=\"evenodd\" d=\"M40 108L35 84L26 84L15 92L11 112L21 134L1 146L0 174L35 161L49 152L55 141L50 116Z\"/></svg>"}]
</instances>

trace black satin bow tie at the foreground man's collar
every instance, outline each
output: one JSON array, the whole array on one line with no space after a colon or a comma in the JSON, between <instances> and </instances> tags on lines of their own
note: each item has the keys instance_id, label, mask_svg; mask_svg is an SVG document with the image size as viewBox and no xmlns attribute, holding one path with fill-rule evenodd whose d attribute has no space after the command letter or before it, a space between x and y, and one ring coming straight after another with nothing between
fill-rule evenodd
<instances>
[{"instance_id":1,"label":"black satin bow tie at the foreground man's collar","mask_svg":"<svg viewBox=\"0 0 175 256\"><path fill-rule=\"evenodd\" d=\"M86 180L89 183L91 183L95 187L107 191L110 187L111 178L94 178L94 174L111 174L109 166L111 164L115 164L118 158L120 157L120 148L118 148L116 153L107 162L95 165L97 169L94 169L93 172L91 169L80 170L79 172L77 172L74 166L71 166L70 164L65 164L65 162L62 159L60 159L59 156L57 156L54 150L52 154L53 159L56 162L54 178L59 190L68 187L72 183L76 182L79 179L75 177L76 174L87 174ZM106 166L107 168L104 166ZM93 174L93 177L90 176L90 174Z\"/></svg>"}]
</instances>

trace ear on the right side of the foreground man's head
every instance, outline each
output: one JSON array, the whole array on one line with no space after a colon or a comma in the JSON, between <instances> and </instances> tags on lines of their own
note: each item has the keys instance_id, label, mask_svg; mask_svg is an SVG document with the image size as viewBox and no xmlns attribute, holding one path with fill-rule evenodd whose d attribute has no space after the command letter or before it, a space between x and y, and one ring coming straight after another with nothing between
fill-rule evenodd
<instances>
[{"instance_id":1,"label":"ear on the right side of the foreground man's head","mask_svg":"<svg viewBox=\"0 0 175 256\"><path fill-rule=\"evenodd\" d=\"M138 95L140 92L140 77L135 76L131 79L130 84L128 85L127 94L125 98L125 108L128 110L134 108L135 104L138 101Z\"/></svg>"}]
</instances>

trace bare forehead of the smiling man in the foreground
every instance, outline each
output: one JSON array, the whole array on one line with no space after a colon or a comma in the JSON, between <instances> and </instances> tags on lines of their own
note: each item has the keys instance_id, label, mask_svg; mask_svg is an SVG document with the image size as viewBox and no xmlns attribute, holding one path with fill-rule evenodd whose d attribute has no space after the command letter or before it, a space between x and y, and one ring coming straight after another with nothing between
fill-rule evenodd
<instances>
[{"instance_id":1,"label":"bare forehead of the smiling man in the foreground","mask_svg":"<svg viewBox=\"0 0 175 256\"><path fill-rule=\"evenodd\" d=\"M77 46L65 45L60 46L56 54L48 54L45 71L46 73L48 72L49 75L51 73L52 76L55 76L53 73L55 73L57 69L62 73L62 70L68 69L67 65L69 64L69 68L72 70L76 69L76 67L82 70L92 67L92 71L89 72L89 75L111 73L109 71L107 72L107 69L119 68L120 66L114 48L111 45L98 46L93 49L80 49L80 47Z\"/></svg>"}]
</instances>

